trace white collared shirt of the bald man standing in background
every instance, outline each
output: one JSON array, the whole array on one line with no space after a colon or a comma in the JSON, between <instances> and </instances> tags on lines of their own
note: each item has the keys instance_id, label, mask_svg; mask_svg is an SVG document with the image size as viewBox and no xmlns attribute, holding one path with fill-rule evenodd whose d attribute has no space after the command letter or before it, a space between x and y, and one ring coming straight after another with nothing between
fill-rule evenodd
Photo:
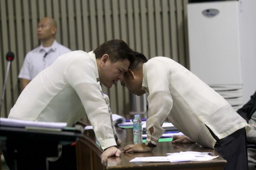
<instances>
[{"instance_id":1,"label":"white collared shirt of the bald man standing in background","mask_svg":"<svg viewBox=\"0 0 256 170\"><path fill-rule=\"evenodd\" d=\"M54 40L51 47L45 48L41 44L26 54L18 78L32 80L40 71L49 67L58 56L67 52L71 52L71 50L59 44L56 40Z\"/></svg>"}]
</instances>

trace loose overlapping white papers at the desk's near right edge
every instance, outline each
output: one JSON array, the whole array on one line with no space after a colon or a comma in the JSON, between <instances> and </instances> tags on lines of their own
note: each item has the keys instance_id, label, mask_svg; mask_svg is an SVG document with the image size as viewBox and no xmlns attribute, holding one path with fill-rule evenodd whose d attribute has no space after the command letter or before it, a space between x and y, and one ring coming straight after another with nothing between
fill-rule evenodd
<instances>
[{"instance_id":1,"label":"loose overlapping white papers at the desk's near right edge","mask_svg":"<svg viewBox=\"0 0 256 170\"><path fill-rule=\"evenodd\" d=\"M179 152L169 153L168 156L136 157L130 162L186 162L186 161L207 161L218 156L211 156L208 152Z\"/></svg>"}]
</instances>

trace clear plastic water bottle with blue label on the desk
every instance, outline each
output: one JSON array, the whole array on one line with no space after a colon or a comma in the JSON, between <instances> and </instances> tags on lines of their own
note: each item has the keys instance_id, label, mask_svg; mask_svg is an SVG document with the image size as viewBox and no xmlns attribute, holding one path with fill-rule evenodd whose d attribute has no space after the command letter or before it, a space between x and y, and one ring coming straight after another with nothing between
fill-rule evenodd
<instances>
[{"instance_id":1,"label":"clear plastic water bottle with blue label on the desk","mask_svg":"<svg viewBox=\"0 0 256 170\"><path fill-rule=\"evenodd\" d=\"M142 143L142 126L139 115L134 115L133 121L134 144Z\"/></svg>"}]
</instances>

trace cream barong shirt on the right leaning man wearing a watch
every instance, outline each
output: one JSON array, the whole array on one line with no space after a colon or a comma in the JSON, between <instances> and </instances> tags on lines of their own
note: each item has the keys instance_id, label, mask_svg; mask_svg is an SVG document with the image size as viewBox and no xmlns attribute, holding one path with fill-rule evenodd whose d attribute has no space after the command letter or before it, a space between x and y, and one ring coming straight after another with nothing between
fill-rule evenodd
<instances>
[{"instance_id":1,"label":"cream barong shirt on the right leaning man wearing a watch","mask_svg":"<svg viewBox=\"0 0 256 170\"><path fill-rule=\"evenodd\" d=\"M209 148L216 140L205 125L220 139L243 127L250 130L223 97L170 58L154 57L143 64L142 89L149 95L146 140L153 144L164 132L166 117L190 140Z\"/></svg>"}]
</instances>

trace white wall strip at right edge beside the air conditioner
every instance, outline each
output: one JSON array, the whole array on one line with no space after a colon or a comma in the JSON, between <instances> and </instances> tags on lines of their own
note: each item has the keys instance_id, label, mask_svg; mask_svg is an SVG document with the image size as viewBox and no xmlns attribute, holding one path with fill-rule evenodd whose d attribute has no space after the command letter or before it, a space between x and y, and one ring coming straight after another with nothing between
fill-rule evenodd
<instances>
[{"instance_id":1,"label":"white wall strip at right edge beside the air conditioner","mask_svg":"<svg viewBox=\"0 0 256 170\"><path fill-rule=\"evenodd\" d=\"M243 101L246 103L256 90L256 0L239 1Z\"/></svg>"}]
</instances>

